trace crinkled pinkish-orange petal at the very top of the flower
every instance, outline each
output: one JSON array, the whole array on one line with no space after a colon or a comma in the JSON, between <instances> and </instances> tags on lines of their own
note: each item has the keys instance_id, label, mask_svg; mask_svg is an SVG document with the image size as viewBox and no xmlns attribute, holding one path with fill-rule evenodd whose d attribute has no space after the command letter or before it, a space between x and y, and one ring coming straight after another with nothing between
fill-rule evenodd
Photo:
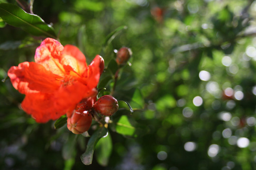
<instances>
[{"instance_id":1,"label":"crinkled pinkish-orange petal at the very top of the flower","mask_svg":"<svg viewBox=\"0 0 256 170\"><path fill-rule=\"evenodd\" d=\"M41 45L37 47L35 61L54 74L64 76L65 71L60 64L63 50L64 47L60 42L52 38L46 38Z\"/></svg>"}]
</instances>

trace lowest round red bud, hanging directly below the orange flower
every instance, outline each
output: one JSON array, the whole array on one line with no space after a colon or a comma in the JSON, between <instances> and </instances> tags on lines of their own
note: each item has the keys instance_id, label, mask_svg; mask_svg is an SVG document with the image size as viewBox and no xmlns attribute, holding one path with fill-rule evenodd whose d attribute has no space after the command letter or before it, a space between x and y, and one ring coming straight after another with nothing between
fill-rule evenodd
<instances>
[{"instance_id":1,"label":"lowest round red bud, hanging directly below the orange flower","mask_svg":"<svg viewBox=\"0 0 256 170\"><path fill-rule=\"evenodd\" d=\"M67 119L67 127L74 134L82 134L91 127L91 114L86 110L75 110Z\"/></svg>"}]
</instances>

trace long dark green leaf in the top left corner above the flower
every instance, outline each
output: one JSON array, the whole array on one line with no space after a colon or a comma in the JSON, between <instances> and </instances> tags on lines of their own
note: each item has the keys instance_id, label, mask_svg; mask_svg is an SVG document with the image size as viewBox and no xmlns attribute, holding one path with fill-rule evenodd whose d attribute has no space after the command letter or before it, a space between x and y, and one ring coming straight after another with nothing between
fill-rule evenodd
<instances>
[{"instance_id":1,"label":"long dark green leaf in the top left corner above the flower","mask_svg":"<svg viewBox=\"0 0 256 170\"><path fill-rule=\"evenodd\" d=\"M32 35L56 39L56 34L52 26L47 25L39 16L28 14L17 5L0 3L0 17L7 24L19 27Z\"/></svg>"}]
</instances>

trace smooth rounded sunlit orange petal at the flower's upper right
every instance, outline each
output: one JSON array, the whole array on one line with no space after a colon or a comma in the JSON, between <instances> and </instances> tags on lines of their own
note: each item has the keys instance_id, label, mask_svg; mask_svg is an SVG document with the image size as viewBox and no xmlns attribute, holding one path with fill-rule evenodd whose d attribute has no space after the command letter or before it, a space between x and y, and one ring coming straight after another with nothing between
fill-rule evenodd
<instances>
[{"instance_id":1,"label":"smooth rounded sunlit orange petal at the flower's upper right","mask_svg":"<svg viewBox=\"0 0 256 170\"><path fill-rule=\"evenodd\" d=\"M60 63L62 65L71 66L79 75L81 75L87 67L85 56L77 47L73 45L64 46Z\"/></svg>"}]
</instances>

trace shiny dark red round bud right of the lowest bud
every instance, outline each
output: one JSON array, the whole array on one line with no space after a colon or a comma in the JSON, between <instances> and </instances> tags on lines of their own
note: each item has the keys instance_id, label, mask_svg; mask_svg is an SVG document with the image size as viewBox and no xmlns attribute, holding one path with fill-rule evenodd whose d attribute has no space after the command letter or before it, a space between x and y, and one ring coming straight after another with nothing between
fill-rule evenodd
<instances>
[{"instance_id":1,"label":"shiny dark red round bud right of the lowest bud","mask_svg":"<svg viewBox=\"0 0 256 170\"><path fill-rule=\"evenodd\" d=\"M117 99L110 95L104 95L94 103L93 108L102 115L111 116L118 110L119 105Z\"/></svg>"}]
</instances>

